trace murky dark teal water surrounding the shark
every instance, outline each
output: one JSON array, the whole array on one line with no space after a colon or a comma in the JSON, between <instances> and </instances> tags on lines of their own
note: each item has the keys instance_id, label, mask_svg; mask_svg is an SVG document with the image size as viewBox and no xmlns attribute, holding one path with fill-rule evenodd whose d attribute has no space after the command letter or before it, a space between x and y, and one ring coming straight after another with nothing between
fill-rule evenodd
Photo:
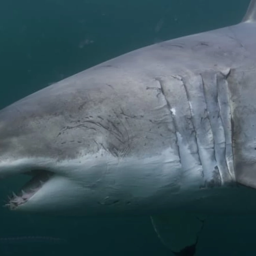
<instances>
[{"instance_id":1,"label":"murky dark teal water surrounding the shark","mask_svg":"<svg viewBox=\"0 0 256 256\"><path fill-rule=\"evenodd\" d=\"M0 0L0 108L155 42L232 25L249 0ZM0 201L22 176L0 182ZM197 255L251 255L255 216L205 223ZM71 218L0 209L0 255L171 255L149 217Z\"/></svg>"}]
</instances>

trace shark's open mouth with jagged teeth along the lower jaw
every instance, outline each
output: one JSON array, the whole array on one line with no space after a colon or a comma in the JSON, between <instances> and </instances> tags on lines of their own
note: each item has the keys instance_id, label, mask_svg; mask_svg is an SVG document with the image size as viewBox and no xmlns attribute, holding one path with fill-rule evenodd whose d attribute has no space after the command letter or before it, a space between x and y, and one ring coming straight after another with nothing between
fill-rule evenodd
<instances>
[{"instance_id":1,"label":"shark's open mouth with jagged teeth along the lower jaw","mask_svg":"<svg viewBox=\"0 0 256 256\"><path fill-rule=\"evenodd\" d=\"M8 197L8 203L5 206L11 210L15 210L19 205L26 203L50 179L53 172L33 170L24 174L32 175L33 177L20 189L17 195L13 193Z\"/></svg>"}]
</instances>

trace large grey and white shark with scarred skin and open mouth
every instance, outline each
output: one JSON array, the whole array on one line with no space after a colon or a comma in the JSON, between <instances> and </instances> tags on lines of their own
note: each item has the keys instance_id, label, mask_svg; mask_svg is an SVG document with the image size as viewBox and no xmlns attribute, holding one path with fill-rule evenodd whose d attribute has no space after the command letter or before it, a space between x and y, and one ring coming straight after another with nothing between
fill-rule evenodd
<instances>
[{"instance_id":1,"label":"large grey and white shark with scarred skin and open mouth","mask_svg":"<svg viewBox=\"0 0 256 256\"><path fill-rule=\"evenodd\" d=\"M256 0L237 25L147 46L0 111L11 210L147 214L175 255L256 212Z\"/></svg>"}]
</instances>

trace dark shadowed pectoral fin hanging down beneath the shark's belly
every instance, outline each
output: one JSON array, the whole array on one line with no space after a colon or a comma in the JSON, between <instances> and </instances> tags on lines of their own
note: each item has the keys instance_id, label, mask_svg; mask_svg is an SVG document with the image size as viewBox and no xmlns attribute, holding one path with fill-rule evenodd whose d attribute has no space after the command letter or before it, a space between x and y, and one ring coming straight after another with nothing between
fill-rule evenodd
<instances>
[{"instance_id":1,"label":"dark shadowed pectoral fin hanging down beneath the shark's belly","mask_svg":"<svg viewBox=\"0 0 256 256\"><path fill-rule=\"evenodd\" d=\"M195 255L204 219L186 213L151 216L158 237L177 256Z\"/></svg>"}]
</instances>

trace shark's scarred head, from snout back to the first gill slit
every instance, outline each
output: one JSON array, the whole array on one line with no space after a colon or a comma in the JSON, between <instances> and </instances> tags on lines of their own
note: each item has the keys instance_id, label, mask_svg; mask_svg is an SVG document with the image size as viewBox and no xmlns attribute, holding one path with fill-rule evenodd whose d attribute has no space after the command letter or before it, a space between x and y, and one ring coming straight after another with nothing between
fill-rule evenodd
<instances>
[{"instance_id":1,"label":"shark's scarred head, from snout back to the first gill slit","mask_svg":"<svg viewBox=\"0 0 256 256\"><path fill-rule=\"evenodd\" d=\"M179 163L170 160L169 128L152 121L153 114L169 118L158 108L158 91L139 94L121 82L114 88L101 73L63 80L0 111L0 178L31 176L9 198L11 209L83 215L144 210L152 205L148 198L179 189L166 177L179 176L167 171Z\"/></svg>"}]
</instances>

